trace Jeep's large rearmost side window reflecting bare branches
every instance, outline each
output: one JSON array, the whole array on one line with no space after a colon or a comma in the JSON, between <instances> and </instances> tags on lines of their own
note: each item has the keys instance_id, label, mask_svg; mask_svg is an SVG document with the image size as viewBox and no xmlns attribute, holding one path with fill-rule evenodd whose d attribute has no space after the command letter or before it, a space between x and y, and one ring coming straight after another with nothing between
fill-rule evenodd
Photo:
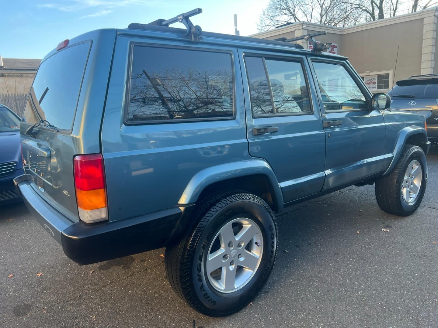
<instances>
[{"instance_id":1,"label":"Jeep's large rearmost side window reflecting bare branches","mask_svg":"<svg viewBox=\"0 0 438 328\"><path fill-rule=\"evenodd\" d=\"M126 122L234 117L230 53L134 45Z\"/></svg>"}]
</instances>

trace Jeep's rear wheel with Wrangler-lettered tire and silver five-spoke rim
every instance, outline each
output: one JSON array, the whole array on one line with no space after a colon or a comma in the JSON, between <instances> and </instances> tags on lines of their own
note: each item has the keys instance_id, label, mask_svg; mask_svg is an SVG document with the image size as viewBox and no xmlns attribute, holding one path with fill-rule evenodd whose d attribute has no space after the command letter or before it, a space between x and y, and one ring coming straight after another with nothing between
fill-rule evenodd
<instances>
[{"instance_id":1,"label":"Jeep's rear wheel with Wrangler-lettered tire and silver five-spoke rim","mask_svg":"<svg viewBox=\"0 0 438 328\"><path fill-rule=\"evenodd\" d=\"M179 244L168 246L173 290L196 311L233 314L257 295L277 252L274 212L256 195L221 192L198 204Z\"/></svg>"}]
</instances>

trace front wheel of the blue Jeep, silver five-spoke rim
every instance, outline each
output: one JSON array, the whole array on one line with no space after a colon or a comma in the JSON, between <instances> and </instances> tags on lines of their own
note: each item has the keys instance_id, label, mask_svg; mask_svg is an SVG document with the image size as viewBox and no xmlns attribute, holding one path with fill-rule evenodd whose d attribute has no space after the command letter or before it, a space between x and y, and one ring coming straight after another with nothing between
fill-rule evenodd
<instances>
[{"instance_id":1,"label":"front wheel of the blue Jeep, silver five-spoke rim","mask_svg":"<svg viewBox=\"0 0 438 328\"><path fill-rule=\"evenodd\" d=\"M408 216L423 200L427 182L427 161L423 149L406 145L390 174L376 180L379 207L389 214Z\"/></svg>"}]
</instances>

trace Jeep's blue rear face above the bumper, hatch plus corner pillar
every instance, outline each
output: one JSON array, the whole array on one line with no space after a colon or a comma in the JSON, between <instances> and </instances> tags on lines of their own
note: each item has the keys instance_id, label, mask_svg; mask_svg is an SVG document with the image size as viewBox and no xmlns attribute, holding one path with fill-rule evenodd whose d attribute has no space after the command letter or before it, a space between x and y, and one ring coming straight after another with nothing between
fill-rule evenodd
<instances>
[{"instance_id":1,"label":"Jeep's blue rear face above the bumper, hatch plus corner pillar","mask_svg":"<svg viewBox=\"0 0 438 328\"><path fill-rule=\"evenodd\" d=\"M115 40L115 29L102 29L61 42L42 60L21 120L30 185L73 222L79 220L74 159L100 153Z\"/></svg>"}]
</instances>

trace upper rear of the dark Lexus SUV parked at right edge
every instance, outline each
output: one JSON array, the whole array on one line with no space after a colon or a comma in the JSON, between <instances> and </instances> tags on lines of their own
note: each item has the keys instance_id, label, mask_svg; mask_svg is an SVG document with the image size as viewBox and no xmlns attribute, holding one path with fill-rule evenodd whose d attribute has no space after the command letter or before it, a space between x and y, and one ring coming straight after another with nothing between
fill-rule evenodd
<instances>
[{"instance_id":1,"label":"upper rear of the dark Lexus SUV parked at right edge","mask_svg":"<svg viewBox=\"0 0 438 328\"><path fill-rule=\"evenodd\" d=\"M419 112L427 124L438 123L438 76L397 81L388 94L391 108Z\"/></svg>"}]
</instances>

